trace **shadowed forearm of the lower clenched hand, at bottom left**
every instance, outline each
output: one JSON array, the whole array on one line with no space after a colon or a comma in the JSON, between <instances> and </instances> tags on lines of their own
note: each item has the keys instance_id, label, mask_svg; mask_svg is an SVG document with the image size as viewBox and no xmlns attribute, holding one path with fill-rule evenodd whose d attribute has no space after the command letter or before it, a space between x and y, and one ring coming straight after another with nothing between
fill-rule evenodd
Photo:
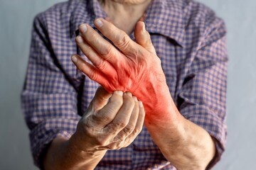
<instances>
[{"instance_id":1,"label":"shadowed forearm of the lower clenched hand, at bottom left","mask_svg":"<svg viewBox=\"0 0 256 170\"><path fill-rule=\"evenodd\" d=\"M95 169L105 153L106 151L83 152L74 145L72 137L70 140L56 137L48 148L43 166L46 170Z\"/></svg>"}]
</instances>

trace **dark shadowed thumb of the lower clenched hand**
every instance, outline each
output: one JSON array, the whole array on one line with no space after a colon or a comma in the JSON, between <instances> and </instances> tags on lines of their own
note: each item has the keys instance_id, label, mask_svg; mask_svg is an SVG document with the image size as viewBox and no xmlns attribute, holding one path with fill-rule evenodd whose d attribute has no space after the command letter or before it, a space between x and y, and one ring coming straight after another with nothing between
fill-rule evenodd
<instances>
[{"instance_id":1,"label":"dark shadowed thumb of the lower clenched hand","mask_svg":"<svg viewBox=\"0 0 256 170\"><path fill-rule=\"evenodd\" d=\"M112 94L108 93L102 86L99 86L95 97L92 99L92 108L94 111L99 111L107 104Z\"/></svg>"}]
</instances>

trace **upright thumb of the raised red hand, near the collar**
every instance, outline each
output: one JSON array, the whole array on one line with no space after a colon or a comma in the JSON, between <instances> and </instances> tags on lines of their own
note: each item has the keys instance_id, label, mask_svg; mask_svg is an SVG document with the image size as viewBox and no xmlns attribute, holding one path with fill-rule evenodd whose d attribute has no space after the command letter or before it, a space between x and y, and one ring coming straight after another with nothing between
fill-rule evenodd
<instances>
[{"instance_id":1,"label":"upright thumb of the raised red hand, near the collar","mask_svg":"<svg viewBox=\"0 0 256 170\"><path fill-rule=\"evenodd\" d=\"M142 45L146 50L156 54L154 45L151 42L149 32L146 31L145 23L138 21L134 29L134 37L139 45Z\"/></svg>"}]
</instances>

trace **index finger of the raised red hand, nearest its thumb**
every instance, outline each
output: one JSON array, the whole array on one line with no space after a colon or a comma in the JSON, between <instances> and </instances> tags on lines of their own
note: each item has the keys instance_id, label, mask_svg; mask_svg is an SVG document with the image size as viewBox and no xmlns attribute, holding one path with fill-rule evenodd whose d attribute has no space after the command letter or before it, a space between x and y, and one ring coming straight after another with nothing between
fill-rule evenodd
<instances>
[{"instance_id":1,"label":"index finger of the raised red hand, nearest its thumb","mask_svg":"<svg viewBox=\"0 0 256 170\"><path fill-rule=\"evenodd\" d=\"M134 52L136 43L129 38L129 35L123 30L120 30L109 21L103 18L97 18L95 20L95 26L106 38L111 40L114 45L121 50L124 54L129 55Z\"/></svg>"}]
</instances>

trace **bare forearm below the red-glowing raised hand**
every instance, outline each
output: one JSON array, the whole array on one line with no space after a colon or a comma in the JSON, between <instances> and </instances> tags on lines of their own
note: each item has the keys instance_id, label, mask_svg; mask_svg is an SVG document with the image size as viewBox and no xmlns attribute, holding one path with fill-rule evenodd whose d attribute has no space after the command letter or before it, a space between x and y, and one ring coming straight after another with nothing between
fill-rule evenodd
<instances>
[{"instance_id":1,"label":"bare forearm below the red-glowing raised hand","mask_svg":"<svg viewBox=\"0 0 256 170\"><path fill-rule=\"evenodd\" d=\"M215 155L213 139L206 130L183 118L173 102L171 106L172 113L167 115L175 117L170 118L173 122L164 116L146 128L164 157L177 169L206 169Z\"/></svg>"}]
</instances>

